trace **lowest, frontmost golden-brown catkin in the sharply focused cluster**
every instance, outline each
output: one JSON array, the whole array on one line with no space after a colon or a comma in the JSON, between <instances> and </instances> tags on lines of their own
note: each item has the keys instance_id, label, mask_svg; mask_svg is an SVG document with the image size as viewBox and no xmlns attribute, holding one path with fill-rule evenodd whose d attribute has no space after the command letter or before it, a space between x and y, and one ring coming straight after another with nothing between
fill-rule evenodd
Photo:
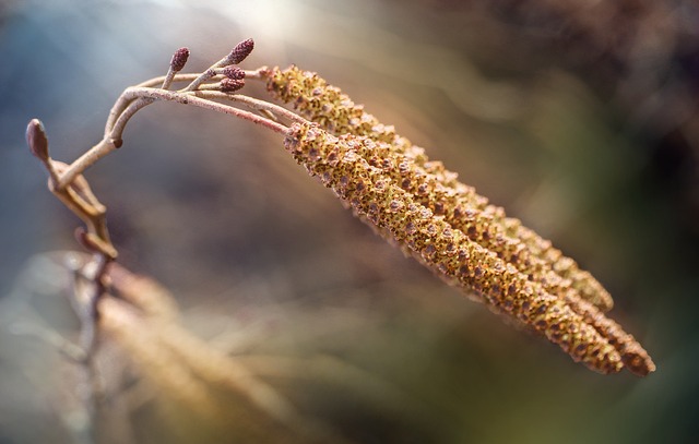
<instances>
[{"instance_id":1,"label":"lowest, frontmost golden-brown catkin in the sharply focused cluster","mask_svg":"<svg viewBox=\"0 0 699 444\"><path fill-rule=\"evenodd\" d=\"M446 280L475 290L495 311L531 326L590 369L615 373L624 367L606 338L561 298L530 281L371 166L358 152L374 143L350 134L335 137L315 124L294 124L284 144L357 215Z\"/></svg>"}]
</instances>

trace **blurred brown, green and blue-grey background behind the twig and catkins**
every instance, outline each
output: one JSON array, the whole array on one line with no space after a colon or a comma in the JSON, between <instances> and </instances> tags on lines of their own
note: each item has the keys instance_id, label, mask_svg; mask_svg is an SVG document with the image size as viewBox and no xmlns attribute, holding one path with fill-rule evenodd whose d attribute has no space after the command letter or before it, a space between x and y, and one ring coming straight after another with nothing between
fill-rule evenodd
<instances>
[{"instance_id":1,"label":"blurred brown, green and blue-grey background behind the twig and catkins","mask_svg":"<svg viewBox=\"0 0 699 444\"><path fill-rule=\"evenodd\" d=\"M86 177L108 207L121 264L163 283L190 333L249 362L337 440L699 435L696 2L1 4L0 443L81 442L72 364L13 328L36 323L69 339L78 332L64 276L37 257L76 249L78 220L46 190L26 123L42 119L52 157L72 160L100 139L119 93L163 75L177 48L190 48L186 71L199 71L248 37L256 50L245 68L318 71L590 269L615 299L612 317L657 371L640 380L573 363L376 237L279 136L156 104ZM139 370L129 375L138 388ZM174 430L153 407L157 393L138 393L98 442L203 433ZM175 418L187 420L186 411ZM254 425L270 419L254 406L230 412L232 442L305 442L279 424L260 432Z\"/></svg>"}]
</instances>

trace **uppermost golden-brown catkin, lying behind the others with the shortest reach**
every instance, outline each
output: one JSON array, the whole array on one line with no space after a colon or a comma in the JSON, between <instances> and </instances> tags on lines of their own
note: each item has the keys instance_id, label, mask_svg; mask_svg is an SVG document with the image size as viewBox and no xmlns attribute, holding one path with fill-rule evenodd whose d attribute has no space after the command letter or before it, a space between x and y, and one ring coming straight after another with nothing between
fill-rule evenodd
<instances>
[{"instance_id":1,"label":"uppermost golden-brown catkin, lying behind the others with the shortest reach","mask_svg":"<svg viewBox=\"0 0 699 444\"><path fill-rule=\"evenodd\" d=\"M389 143L384 153L374 156L383 164L372 165L392 168L392 178L403 189L419 196L420 204L436 214L443 214L472 240L496 251L554 293L572 287L600 309L612 308L609 293L590 273L579 269L573 260L522 227L518 219L506 217L501 207L489 205L472 187L460 183L457 173L448 171L439 161L429 161L423 148L395 134L393 127L380 123L318 74L296 67L284 71L275 68L266 74L268 89L275 97L293 101L304 116L322 128L335 134L365 135Z\"/></svg>"}]
</instances>

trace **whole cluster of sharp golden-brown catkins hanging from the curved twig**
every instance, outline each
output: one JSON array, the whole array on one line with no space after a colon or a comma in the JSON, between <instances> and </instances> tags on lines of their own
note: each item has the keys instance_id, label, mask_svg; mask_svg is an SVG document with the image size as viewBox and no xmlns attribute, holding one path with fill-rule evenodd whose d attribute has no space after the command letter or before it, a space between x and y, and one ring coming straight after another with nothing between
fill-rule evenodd
<instances>
[{"instance_id":1,"label":"whole cluster of sharp golden-brown catkins hanging from the curved twig","mask_svg":"<svg viewBox=\"0 0 699 444\"><path fill-rule=\"evenodd\" d=\"M381 236L591 369L654 370L635 338L602 313L612 299L600 283L441 163L429 161L423 148L315 73L268 71L268 89L318 123L295 127L287 137L297 161Z\"/></svg>"}]
</instances>

